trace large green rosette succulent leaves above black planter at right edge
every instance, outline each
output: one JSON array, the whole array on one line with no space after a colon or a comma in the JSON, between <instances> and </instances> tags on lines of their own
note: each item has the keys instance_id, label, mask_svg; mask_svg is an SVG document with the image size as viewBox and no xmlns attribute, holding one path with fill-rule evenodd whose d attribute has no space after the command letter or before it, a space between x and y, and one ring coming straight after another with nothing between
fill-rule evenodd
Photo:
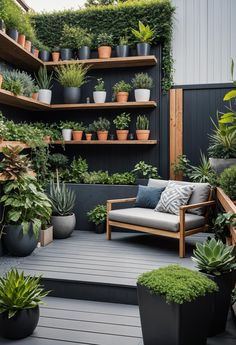
<instances>
[{"instance_id":1,"label":"large green rosette succulent leaves above black planter at right edge","mask_svg":"<svg viewBox=\"0 0 236 345\"><path fill-rule=\"evenodd\" d=\"M227 246L214 238L197 243L192 260L202 272L219 276L236 268L233 246Z\"/></svg>"}]
</instances>

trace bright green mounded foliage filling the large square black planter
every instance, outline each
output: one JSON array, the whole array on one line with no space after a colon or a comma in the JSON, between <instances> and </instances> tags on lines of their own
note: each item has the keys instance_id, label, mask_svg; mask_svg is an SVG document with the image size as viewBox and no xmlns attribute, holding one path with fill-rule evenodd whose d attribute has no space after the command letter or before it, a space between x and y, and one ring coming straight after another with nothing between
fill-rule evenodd
<instances>
[{"instance_id":1,"label":"bright green mounded foliage filling the large square black planter","mask_svg":"<svg viewBox=\"0 0 236 345\"><path fill-rule=\"evenodd\" d=\"M138 283L153 295L163 295L167 303L177 304L195 301L218 290L216 283L205 275L178 265L146 272L138 278Z\"/></svg>"}]
</instances>

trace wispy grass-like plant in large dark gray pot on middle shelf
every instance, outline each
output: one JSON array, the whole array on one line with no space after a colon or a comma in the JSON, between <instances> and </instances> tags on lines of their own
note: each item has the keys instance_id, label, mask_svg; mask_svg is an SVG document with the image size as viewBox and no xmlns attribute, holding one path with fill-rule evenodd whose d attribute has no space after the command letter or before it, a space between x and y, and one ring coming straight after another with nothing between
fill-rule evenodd
<instances>
[{"instance_id":1,"label":"wispy grass-like plant in large dark gray pot on middle shelf","mask_svg":"<svg viewBox=\"0 0 236 345\"><path fill-rule=\"evenodd\" d=\"M62 65L56 69L56 78L64 87L64 102L76 104L81 98L81 86L86 83L89 66Z\"/></svg>"}]
</instances>

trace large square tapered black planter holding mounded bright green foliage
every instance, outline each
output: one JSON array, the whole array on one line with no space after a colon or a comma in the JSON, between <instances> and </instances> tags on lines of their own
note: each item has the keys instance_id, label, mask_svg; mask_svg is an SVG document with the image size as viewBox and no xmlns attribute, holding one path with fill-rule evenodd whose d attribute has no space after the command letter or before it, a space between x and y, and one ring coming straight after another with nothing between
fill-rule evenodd
<instances>
[{"instance_id":1,"label":"large square tapered black planter holding mounded bright green foliage","mask_svg":"<svg viewBox=\"0 0 236 345\"><path fill-rule=\"evenodd\" d=\"M168 304L138 285L144 345L205 345L210 314L209 296L191 303Z\"/></svg>"}]
</instances>

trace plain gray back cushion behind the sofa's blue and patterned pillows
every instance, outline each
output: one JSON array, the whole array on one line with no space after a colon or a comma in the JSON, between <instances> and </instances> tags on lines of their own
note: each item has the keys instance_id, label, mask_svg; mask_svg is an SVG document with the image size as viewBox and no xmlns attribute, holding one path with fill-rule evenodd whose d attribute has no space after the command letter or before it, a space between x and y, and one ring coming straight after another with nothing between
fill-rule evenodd
<instances>
[{"instance_id":1,"label":"plain gray back cushion behind the sofa's blue and patterned pillows","mask_svg":"<svg viewBox=\"0 0 236 345\"><path fill-rule=\"evenodd\" d=\"M157 187L157 188L163 188L166 187L168 184L168 180L155 180L155 179L149 179L148 181L148 186L150 187ZM189 199L188 204L198 204L200 202L205 202L209 198L209 193L210 193L210 185L209 183L193 183L193 182L186 182L186 181L173 181L174 183L177 184L190 184L194 186L193 193ZM191 210L188 210L188 213L193 213L198 216L202 216L204 214L205 209L204 208L194 208Z\"/></svg>"}]
</instances>

